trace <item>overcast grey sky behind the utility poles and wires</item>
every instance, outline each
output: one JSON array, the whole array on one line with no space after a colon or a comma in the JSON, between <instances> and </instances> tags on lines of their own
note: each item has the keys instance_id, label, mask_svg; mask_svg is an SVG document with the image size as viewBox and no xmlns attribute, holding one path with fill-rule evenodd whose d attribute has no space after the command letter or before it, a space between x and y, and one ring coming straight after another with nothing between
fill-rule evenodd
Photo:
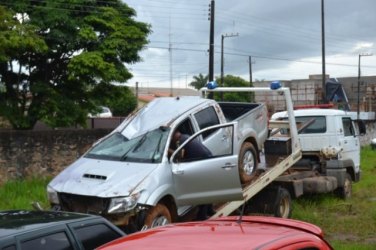
<instances>
[{"instance_id":1,"label":"overcast grey sky behind the utility poles and wires","mask_svg":"<svg viewBox=\"0 0 376 250\"><path fill-rule=\"evenodd\" d=\"M141 87L186 87L208 74L210 0L124 0L136 20L152 27L142 62L130 65L127 83ZM330 77L376 75L376 1L325 0L326 73ZM321 0L216 0L214 75L249 80L306 79L322 73ZM169 47L171 50L169 51ZM171 63L171 64L170 64ZM172 72L172 75L170 75Z\"/></svg>"}]
</instances>

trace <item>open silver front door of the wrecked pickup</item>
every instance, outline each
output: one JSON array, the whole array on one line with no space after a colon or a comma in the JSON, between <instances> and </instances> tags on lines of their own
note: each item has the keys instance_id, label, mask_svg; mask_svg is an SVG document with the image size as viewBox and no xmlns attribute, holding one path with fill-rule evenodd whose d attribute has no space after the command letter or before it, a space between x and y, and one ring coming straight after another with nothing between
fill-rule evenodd
<instances>
[{"instance_id":1,"label":"open silver front door of the wrecked pickup","mask_svg":"<svg viewBox=\"0 0 376 250\"><path fill-rule=\"evenodd\" d=\"M197 205L242 199L242 188L238 172L238 155L235 152L236 123L215 125L205 128L188 138L172 155L172 173L177 205ZM207 146L212 157L206 159L181 158L186 145L202 138L202 133L213 132L221 143ZM225 153L214 147L223 147Z\"/></svg>"}]
</instances>

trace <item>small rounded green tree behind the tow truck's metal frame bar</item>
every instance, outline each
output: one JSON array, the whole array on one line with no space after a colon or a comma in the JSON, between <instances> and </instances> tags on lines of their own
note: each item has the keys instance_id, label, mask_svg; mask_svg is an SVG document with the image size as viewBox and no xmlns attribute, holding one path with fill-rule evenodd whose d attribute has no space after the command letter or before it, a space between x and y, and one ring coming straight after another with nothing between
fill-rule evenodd
<instances>
[{"instance_id":1,"label":"small rounded green tree behind the tow truck's metal frame bar","mask_svg":"<svg viewBox=\"0 0 376 250\"><path fill-rule=\"evenodd\" d=\"M220 81L219 78L216 79L217 82ZM248 81L244 80L238 76L226 75L224 77L224 87L249 87ZM223 98L222 98L223 96ZM217 101L231 101L231 102L253 102L254 93L247 92L225 92L223 95L221 93L215 93L214 99Z\"/></svg>"}]
</instances>

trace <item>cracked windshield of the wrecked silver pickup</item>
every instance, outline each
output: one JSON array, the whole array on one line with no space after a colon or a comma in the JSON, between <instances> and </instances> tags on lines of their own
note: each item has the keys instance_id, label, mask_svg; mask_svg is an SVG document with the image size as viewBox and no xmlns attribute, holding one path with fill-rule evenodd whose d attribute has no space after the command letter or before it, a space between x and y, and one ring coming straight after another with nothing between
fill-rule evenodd
<instances>
[{"instance_id":1,"label":"cracked windshield of the wrecked silver pickup","mask_svg":"<svg viewBox=\"0 0 376 250\"><path fill-rule=\"evenodd\" d=\"M133 139L128 139L116 132L97 145L86 155L86 158L160 163L166 146L170 129L160 127Z\"/></svg>"}]
</instances>

